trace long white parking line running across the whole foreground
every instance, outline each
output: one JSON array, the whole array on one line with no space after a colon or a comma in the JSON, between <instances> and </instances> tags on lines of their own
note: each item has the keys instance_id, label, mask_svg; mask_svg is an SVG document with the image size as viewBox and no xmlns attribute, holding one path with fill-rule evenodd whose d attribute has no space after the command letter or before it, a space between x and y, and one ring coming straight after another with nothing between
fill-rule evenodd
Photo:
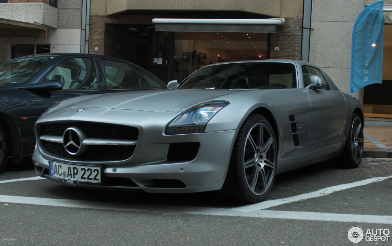
<instances>
[{"instance_id":1,"label":"long white parking line running across the whole foreground","mask_svg":"<svg viewBox=\"0 0 392 246\"><path fill-rule=\"evenodd\" d=\"M89 208L100 210L116 210L129 212L156 212L172 214L192 214L192 215L216 215L216 216L239 216L256 218L274 219L298 219L312 221L336 221L336 222L358 222L375 224L392 224L392 216L381 215L359 215L359 214L340 214L340 213L318 213L318 212L291 212L261 210L242 212L229 208L204 208L188 206L171 206L155 204L127 204L109 203L96 201L50 199L40 197L20 197L11 195L0 195L0 203L18 203L31 205L44 205L68 208Z\"/></svg>"}]
</instances>

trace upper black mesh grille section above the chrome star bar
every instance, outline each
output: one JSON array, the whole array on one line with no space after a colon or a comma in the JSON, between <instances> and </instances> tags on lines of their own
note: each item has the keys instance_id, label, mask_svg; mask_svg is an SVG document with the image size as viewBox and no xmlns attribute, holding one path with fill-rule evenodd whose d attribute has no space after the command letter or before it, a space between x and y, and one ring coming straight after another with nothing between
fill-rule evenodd
<instances>
[{"instance_id":1,"label":"upper black mesh grille section above the chrome star bar","mask_svg":"<svg viewBox=\"0 0 392 246\"><path fill-rule=\"evenodd\" d=\"M82 128L87 137L102 139L137 140L139 130L136 127L94 123L59 123L42 126L42 135L63 136L68 127Z\"/></svg>"}]
</instances>

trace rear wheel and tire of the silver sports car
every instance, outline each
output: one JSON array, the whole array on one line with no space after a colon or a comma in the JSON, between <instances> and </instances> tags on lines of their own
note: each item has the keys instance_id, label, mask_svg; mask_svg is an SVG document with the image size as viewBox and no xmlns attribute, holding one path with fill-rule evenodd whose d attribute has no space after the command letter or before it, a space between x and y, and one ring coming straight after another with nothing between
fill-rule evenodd
<instances>
[{"instance_id":1,"label":"rear wheel and tire of the silver sports car","mask_svg":"<svg viewBox=\"0 0 392 246\"><path fill-rule=\"evenodd\" d=\"M361 163L363 154L363 123L357 113L352 114L348 127L346 145L337 161L340 167L356 168Z\"/></svg>"}]
</instances>

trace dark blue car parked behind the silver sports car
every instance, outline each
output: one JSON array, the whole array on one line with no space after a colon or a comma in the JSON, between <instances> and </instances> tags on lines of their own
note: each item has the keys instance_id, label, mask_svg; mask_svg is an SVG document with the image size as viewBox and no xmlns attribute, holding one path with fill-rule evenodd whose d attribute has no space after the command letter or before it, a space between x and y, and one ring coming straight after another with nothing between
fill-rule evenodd
<instances>
[{"instance_id":1,"label":"dark blue car parked behind the silver sports car","mask_svg":"<svg viewBox=\"0 0 392 246\"><path fill-rule=\"evenodd\" d=\"M64 99L166 85L137 65L108 56L56 53L24 56L0 65L0 172L7 157L33 153L34 124Z\"/></svg>"}]
</instances>

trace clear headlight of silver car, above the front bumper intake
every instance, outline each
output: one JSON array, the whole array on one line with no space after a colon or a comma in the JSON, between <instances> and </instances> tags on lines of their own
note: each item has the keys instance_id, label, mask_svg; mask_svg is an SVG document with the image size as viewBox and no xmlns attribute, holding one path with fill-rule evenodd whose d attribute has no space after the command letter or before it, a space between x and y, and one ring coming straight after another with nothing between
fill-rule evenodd
<instances>
[{"instance_id":1,"label":"clear headlight of silver car, above the front bumper intake","mask_svg":"<svg viewBox=\"0 0 392 246\"><path fill-rule=\"evenodd\" d=\"M204 132L208 121L230 103L228 101L209 101L186 110L174 118L166 128L165 134L187 134Z\"/></svg>"}]
</instances>

